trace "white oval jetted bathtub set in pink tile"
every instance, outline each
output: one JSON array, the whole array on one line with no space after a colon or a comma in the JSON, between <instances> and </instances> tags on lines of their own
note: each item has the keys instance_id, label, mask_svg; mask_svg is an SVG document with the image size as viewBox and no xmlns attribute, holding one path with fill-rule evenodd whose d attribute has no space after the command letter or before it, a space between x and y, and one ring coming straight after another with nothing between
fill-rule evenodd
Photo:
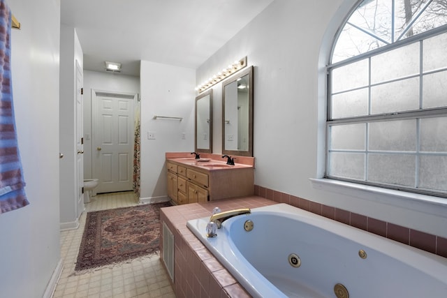
<instances>
[{"instance_id":1,"label":"white oval jetted bathtub set in pink tile","mask_svg":"<svg viewBox=\"0 0 447 298\"><path fill-rule=\"evenodd\" d=\"M229 218L214 238L209 219L187 227L253 297L447 297L446 258L288 204Z\"/></svg>"}]
</instances>

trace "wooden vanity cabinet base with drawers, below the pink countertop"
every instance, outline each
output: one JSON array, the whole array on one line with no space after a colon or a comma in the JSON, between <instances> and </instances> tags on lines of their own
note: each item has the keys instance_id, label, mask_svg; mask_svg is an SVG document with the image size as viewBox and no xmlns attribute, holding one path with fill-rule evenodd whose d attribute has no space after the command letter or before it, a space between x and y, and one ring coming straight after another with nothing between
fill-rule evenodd
<instances>
[{"instance_id":1,"label":"wooden vanity cabinet base with drawers, below the pink countertop","mask_svg":"<svg viewBox=\"0 0 447 298\"><path fill-rule=\"evenodd\" d=\"M206 202L254 194L254 167L207 170L179 158L166 159L168 196L176 204Z\"/></svg>"}]
</instances>

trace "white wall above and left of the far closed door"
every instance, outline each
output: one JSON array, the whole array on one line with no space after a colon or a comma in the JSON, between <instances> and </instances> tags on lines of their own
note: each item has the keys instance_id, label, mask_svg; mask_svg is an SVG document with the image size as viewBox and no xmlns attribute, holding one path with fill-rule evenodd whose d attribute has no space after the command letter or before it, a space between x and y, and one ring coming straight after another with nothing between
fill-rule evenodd
<instances>
[{"instance_id":1,"label":"white wall above and left of the far closed door","mask_svg":"<svg viewBox=\"0 0 447 298\"><path fill-rule=\"evenodd\" d=\"M91 167L91 91L108 91L117 93L140 93L140 78L119 73L99 73L84 70L84 179L92 177ZM138 103L135 103L138 104ZM96 151L96 149L95 149Z\"/></svg>"}]
</instances>

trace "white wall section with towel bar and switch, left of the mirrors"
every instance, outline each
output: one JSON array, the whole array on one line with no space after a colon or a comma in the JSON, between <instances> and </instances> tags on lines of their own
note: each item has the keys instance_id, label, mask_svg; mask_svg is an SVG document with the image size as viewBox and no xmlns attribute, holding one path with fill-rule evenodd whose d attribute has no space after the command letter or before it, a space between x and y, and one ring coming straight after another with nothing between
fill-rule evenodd
<instances>
[{"instance_id":1,"label":"white wall section with towel bar and switch, left of the mirrors","mask_svg":"<svg viewBox=\"0 0 447 298\"><path fill-rule=\"evenodd\" d=\"M166 151L194 150L196 73L191 68L141 61L140 80L140 200L166 198ZM183 120L154 120L154 115ZM155 133L155 140L147 140L149 131ZM184 140L182 133L185 133Z\"/></svg>"}]
</instances>

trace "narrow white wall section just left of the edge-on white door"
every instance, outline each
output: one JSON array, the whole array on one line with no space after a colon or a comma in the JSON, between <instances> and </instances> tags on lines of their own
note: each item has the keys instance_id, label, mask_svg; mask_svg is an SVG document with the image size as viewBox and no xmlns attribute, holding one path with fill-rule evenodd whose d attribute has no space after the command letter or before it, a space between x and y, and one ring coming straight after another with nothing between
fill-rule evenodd
<instances>
[{"instance_id":1,"label":"narrow white wall section just left of the edge-on white door","mask_svg":"<svg viewBox=\"0 0 447 298\"><path fill-rule=\"evenodd\" d=\"M76 61L83 67L82 48L73 27L61 25L59 150L60 161L60 221L61 229L78 228L84 204L78 204L76 185Z\"/></svg>"}]
</instances>

